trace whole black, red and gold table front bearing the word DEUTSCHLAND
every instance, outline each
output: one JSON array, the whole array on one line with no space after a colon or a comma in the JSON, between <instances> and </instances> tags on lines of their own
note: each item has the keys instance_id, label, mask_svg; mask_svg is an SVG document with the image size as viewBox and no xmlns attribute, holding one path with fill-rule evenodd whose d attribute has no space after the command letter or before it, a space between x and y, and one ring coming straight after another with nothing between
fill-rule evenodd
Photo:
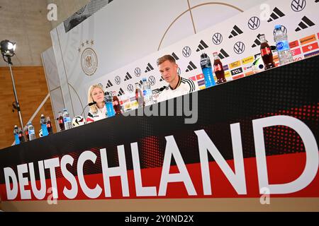
<instances>
[{"instance_id":1,"label":"whole black, red and gold table front bearing the word DEUTSCHLAND","mask_svg":"<svg viewBox=\"0 0 319 226\"><path fill-rule=\"evenodd\" d=\"M4 148L2 206L319 210L318 59Z\"/></svg>"}]
</instances>

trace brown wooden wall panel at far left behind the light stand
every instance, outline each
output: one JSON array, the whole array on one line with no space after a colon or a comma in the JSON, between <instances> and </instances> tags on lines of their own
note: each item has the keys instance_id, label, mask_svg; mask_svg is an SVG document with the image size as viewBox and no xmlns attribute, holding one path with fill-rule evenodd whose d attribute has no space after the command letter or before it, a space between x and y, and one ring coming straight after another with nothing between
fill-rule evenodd
<instances>
[{"instance_id":1,"label":"brown wooden wall panel at far left behind the light stand","mask_svg":"<svg viewBox=\"0 0 319 226\"><path fill-rule=\"evenodd\" d=\"M26 125L48 94L45 72L43 66L13 66L13 76L16 82L16 92L21 106L23 124ZM12 112L12 102L14 101L9 67L0 67L0 149L13 143L13 126L19 125L18 112L16 110L14 113ZM50 117L53 129L56 131L50 97L33 119L37 137L40 130L40 114Z\"/></svg>"}]
</instances>

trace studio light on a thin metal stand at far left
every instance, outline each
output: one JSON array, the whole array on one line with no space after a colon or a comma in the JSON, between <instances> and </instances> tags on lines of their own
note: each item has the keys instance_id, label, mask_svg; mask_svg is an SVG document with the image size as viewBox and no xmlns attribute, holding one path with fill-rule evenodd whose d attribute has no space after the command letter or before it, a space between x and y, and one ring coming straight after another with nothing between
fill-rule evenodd
<instances>
[{"instance_id":1,"label":"studio light on a thin metal stand at far left","mask_svg":"<svg viewBox=\"0 0 319 226\"><path fill-rule=\"evenodd\" d=\"M13 93L14 93L14 97L16 99L16 106L13 105L13 107L15 107L18 110L18 117L19 117L19 122L20 122L21 130L22 130L22 140L26 141L24 127L23 127L23 121L22 121L22 116L21 116L21 108L20 108L20 105L18 102L18 96L16 95L16 83L14 83L13 72L12 72L12 68L11 68L11 65L12 65L11 57L14 56L14 49L16 49L15 43L10 42L9 40L4 40L4 41L0 42L0 50L1 50L2 57L3 58L6 57L6 59L4 58L4 61L6 61L6 63L8 63L10 73L11 73Z\"/></svg>"}]
</instances>

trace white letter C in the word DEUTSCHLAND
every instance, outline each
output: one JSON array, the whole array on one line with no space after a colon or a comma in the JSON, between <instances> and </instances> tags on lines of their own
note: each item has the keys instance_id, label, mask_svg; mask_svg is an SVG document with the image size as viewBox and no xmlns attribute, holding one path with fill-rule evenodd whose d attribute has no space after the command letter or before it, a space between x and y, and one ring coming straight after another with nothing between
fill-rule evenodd
<instances>
[{"instance_id":1,"label":"white letter C in the word DEUTSCHLAND","mask_svg":"<svg viewBox=\"0 0 319 226\"><path fill-rule=\"evenodd\" d=\"M99 184L96 184L96 187L94 189L90 189L86 185L86 182L84 179L83 166L84 166L84 162L86 162L87 160L91 160L91 162L95 163L96 155L92 153L91 151L86 150L84 151L84 153L82 153L79 156L79 160L77 161L77 177L79 179L79 184L84 194L88 196L89 198L97 198L101 195L101 192L102 192L101 186L99 186Z\"/></svg>"}]
</instances>

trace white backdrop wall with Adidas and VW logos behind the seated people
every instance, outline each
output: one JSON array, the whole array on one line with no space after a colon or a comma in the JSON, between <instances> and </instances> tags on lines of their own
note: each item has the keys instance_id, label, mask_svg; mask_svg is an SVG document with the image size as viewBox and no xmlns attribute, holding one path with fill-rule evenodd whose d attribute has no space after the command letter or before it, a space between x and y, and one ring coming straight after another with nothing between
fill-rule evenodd
<instances>
[{"instance_id":1,"label":"white backdrop wall with Adidas and VW logos behind the seated people","mask_svg":"<svg viewBox=\"0 0 319 226\"><path fill-rule=\"evenodd\" d=\"M303 59L318 52L318 9L315 0L113 1L69 32L63 24L51 32L65 107L72 117L80 114L94 83L125 98L133 96L130 85L142 77L150 78L153 90L162 87L156 60L163 54L174 53L181 75L201 88L202 52L211 59L213 52L223 54L228 80L249 75L259 53L257 35L264 33L274 44L276 24L288 31L295 59ZM86 75L86 67L86 73L94 73Z\"/></svg>"}]
</instances>

